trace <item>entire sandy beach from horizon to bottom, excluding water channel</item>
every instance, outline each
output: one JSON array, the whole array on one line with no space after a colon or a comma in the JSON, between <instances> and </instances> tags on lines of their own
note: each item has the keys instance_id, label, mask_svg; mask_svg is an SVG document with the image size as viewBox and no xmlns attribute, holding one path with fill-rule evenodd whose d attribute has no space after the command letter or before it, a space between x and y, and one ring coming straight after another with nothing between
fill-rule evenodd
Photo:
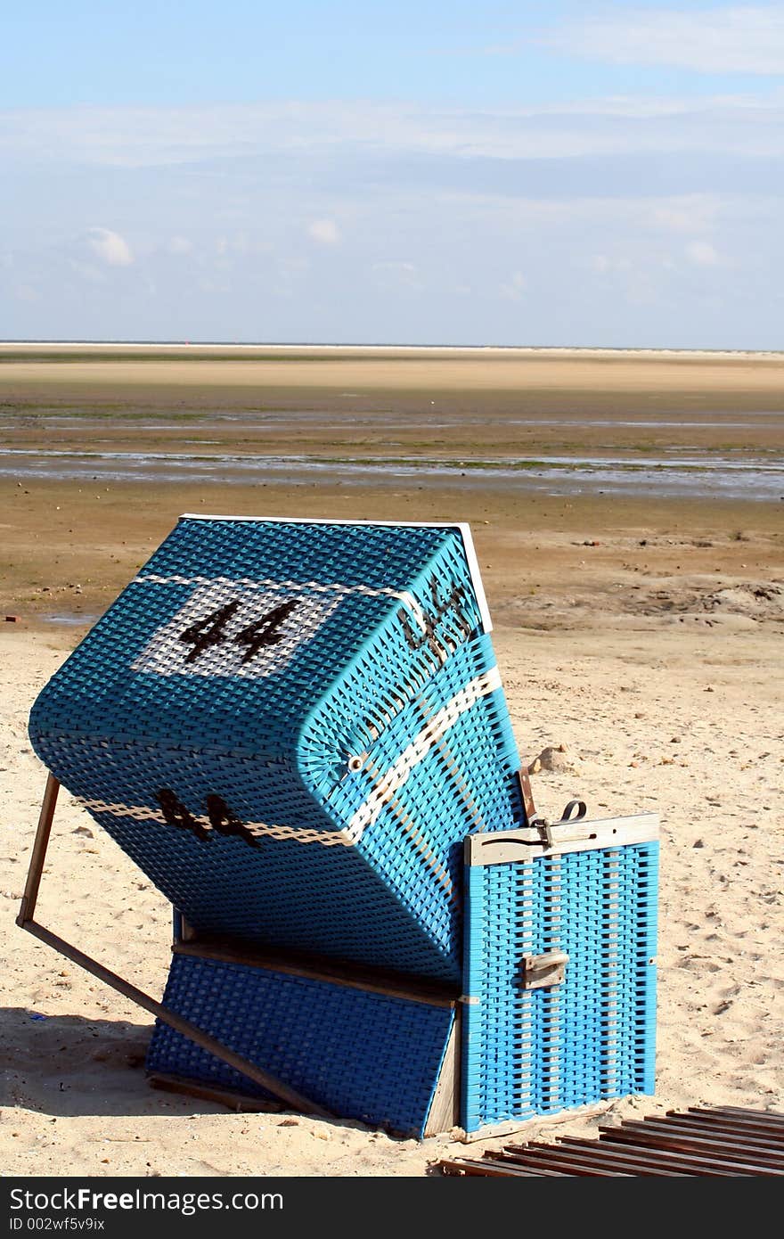
<instances>
[{"instance_id":1,"label":"entire sandy beach from horizon to bottom, excluding water channel","mask_svg":"<svg viewBox=\"0 0 784 1239\"><path fill-rule=\"evenodd\" d=\"M54 456L0 476L0 618L14 617L0 626L5 1173L420 1176L466 1154L455 1135L396 1140L152 1090L151 1020L14 923L46 778L31 704L183 512L469 522L520 753L564 746L560 768L533 776L538 807L559 817L577 795L592 817L660 815L656 1094L524 1135L711 1103L784 1110L784 503L728 498L696 475L675 496L648 473L602 493L471 468L692 452L762 476L780 466L784 359L63 352L0 348L0 451L260 463L230 486L219 470L166 479L171 462L152 482L128 461L110 479L64 476ZM294 456L328 467L287 471ZM466 479L344 471L390 456L463 461ZM284 466L265 472L265 457ZM162 992L170 909L67 794L40 919Z\"/></svg>"}]
</instances>

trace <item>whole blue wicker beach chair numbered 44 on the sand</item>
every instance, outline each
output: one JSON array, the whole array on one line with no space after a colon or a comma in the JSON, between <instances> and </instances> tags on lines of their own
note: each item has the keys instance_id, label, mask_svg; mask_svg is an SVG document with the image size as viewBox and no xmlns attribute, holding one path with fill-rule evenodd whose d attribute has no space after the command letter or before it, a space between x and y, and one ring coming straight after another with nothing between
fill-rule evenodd
<instances>
[{"instance_id":1,"label":"whole blue wicker beach chair numbered 44 on the sand","mask_svg":"<svg viewBox=\"0 0 784 1239\"><path fill-rule=\"evenodd\" d=\"M464 525L183 517L33 705L19 923L160 1082L422 1136L653 1090L656 821L535 817ZM33 919L62 783L176 909L162 1002Z\"/></svg>"}]
</instances>

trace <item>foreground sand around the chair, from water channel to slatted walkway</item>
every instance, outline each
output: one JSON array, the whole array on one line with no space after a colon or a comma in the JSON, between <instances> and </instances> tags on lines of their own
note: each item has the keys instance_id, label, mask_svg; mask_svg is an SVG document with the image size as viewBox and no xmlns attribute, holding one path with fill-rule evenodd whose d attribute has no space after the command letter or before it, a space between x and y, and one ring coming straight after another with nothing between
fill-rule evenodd
<instances>
[{"instance_id":1,"label":"foreground sand around the chair, from water channel to slatted walkway","mask_svg":"<svg viewBox=\"0 0 784 1239\"><path fill-rule=\"evenodd\" d=\"M31 379L25 400L45 388ZM710 385L700 392L707 408ZM16 426L21 415L12 410ZM147 1016L14 924L45 782L26 736L30 706L87 617L197 504L471 520L520 752L531 760L566 746L566 768L533 778L540 809L556 817L578 795L592 817L661 818L656 1094L621 1100L601 1121L703 1103L784 1110L779 507L285 484L227 498L220 487L88 493L62 482L6 483L0 503L0 602L20 616L0 629L6 1175L419 1176L467 1151L450 1136L394 1140L358 1124L234 1114L156 1093L142 1066ZM52 613L81 622L52 624ZM168 908L66 794L40 919L161 994ZM598 1121L571 1116L555 1130L583 1134ZM528 1135L540 1130L534 1123Z\"/></svg>"}]
</instances>

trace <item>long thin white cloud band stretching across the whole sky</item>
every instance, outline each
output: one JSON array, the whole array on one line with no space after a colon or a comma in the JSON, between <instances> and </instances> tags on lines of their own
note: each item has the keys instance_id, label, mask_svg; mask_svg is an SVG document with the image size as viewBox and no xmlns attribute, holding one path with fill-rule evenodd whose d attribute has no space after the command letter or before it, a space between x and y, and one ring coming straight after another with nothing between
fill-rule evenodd
<instances>
[{"instance_id":1,"label":"long thin white cloud band stretching across the whole sky","mask_svg":"<svg viewBox=\"0 0 784 1239\"><path fill-rule=\"evenodd\" d=\"M784 63L784 55L782 63ZM0 159L36 167L251 166L443 156L570 159L649 152L784 155L784 92L759 97L611 98L529 108L425 104L237 104L0 113Z\"/></svg>"}]
</instances>

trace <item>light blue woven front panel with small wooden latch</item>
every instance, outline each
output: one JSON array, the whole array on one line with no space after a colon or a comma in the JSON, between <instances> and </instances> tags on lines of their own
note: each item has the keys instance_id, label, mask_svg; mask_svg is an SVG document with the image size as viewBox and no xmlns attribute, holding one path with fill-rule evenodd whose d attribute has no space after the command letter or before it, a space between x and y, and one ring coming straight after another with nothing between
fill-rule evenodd
<instances>
[{"instance_id":1,"label":"light blue woven front panel with small wooden latch","mask_svg":"<svg viewBox=\"0 0 784 1239\"><path fill-rule=\"evenodd\" d=\"M654 1092L656 843L469 866L467 1131ZM524 989L528 954L565 980Z\"/></svg>"}]
</instances>

